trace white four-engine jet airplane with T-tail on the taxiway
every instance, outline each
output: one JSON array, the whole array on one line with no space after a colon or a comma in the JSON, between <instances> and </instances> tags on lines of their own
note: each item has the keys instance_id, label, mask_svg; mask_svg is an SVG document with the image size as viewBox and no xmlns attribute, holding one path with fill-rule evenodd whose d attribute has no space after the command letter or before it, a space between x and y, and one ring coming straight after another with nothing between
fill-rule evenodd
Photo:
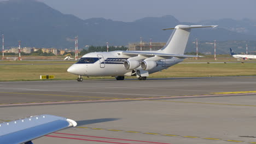
<instances>
[{"instance_id":1,"label":"white four-engine jet airplane with T-tail on the taxiway","mask_svg":"<svg viewBox=\"0 0 256 144\"><path fill-rule=\"evenodd\" d=\"M167 69L180 63L187 57L184 55L191 28L217 26L187 26L177 25L166 45L158 51L111 51L91 52L67 69L69 73L78 75L77 81L83 81L82 76L115 76L117 80L124 80L125 76L137 76L139 80L146 80L147 76L160 70Z\"/></svg>"}]
</instances>

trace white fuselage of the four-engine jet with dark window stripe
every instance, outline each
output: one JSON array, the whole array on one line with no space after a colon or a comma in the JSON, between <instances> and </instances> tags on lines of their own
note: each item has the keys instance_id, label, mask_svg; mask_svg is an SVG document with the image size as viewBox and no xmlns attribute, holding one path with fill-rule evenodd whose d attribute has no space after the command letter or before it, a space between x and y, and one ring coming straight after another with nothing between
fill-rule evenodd
<instances>
[{"instance_id":1,"label":"white fuselage of the four-engine jet with dark window stripe","mask_svg":"<svg viewBox=\"0 0 256 144\"><path fill-rule=\"evenodd\" d=\"M132 76L133 70L124 68L124 61L130 56L122 55L123 51L91 52L68 68L68 72L80 76ZM183 59L170 57L156 61L157 66L148 70L149 74L167 69ZM141 70L141 67L136 68Z\"/></svg>"}]
</instances>

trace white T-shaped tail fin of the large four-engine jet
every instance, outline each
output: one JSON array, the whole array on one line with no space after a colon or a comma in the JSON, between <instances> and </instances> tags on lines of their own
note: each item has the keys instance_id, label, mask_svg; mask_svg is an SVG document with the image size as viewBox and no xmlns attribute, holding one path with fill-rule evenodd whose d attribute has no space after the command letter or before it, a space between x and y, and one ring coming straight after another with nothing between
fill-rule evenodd
<instances>
[{"instance_id":1,"label":"white T-shaped tail fin of the large four-engine jet","mask_svg":"<svg viewBox=\"0 0 256 144\"><path fill-rule=\"evenodd\" d=\"M185 51L185 47L187 46L187 43L188 43L188 38L189 38L191 28L203 28L203 27L217 27L217 26L178 25L174 28L164 28L163 30L174 29L174 31L172 32L166 45L162 47L162 49L159 50L159 52L183 55Z\"/></svg>"}]
</instances>

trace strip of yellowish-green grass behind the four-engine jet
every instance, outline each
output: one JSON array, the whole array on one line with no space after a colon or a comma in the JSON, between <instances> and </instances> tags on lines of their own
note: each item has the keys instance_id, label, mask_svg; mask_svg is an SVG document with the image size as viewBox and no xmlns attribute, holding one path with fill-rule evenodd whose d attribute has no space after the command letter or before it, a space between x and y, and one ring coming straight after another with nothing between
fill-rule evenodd
<instances>
[{"instance_id":1,"label":"strip of yellowish-green grass behind the four-engine jet","mask_svg":"<svg viewBox=\"0 0 256 144\"><path fill-rule=\"evenodd\" d=\"M56 79L54 80L75 80L77 79L77 75L67 73L67 69L72 63L54 65L0 65L0 81L34 81L40 80L40 75L55 75ZM256 75L256 63L183 63L176 64L158 73L150 74L149 77L248 75ZM84 79L114 79L114 77L84 77Z\"/></svg>"}]
</instances>

